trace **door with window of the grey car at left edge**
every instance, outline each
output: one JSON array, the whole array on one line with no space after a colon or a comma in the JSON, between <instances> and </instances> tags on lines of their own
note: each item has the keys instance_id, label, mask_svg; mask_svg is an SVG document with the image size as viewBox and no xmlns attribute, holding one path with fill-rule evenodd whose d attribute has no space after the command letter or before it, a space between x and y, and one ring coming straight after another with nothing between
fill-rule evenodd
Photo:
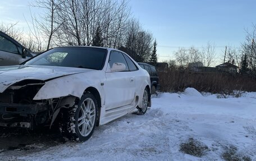
<instances>
[{"instance_id":1,"label":"door with window of the grey car at left edge","mask_svg":"<svg viewBox=\"0 0 256 161\"><path fill-rule=\"evenodd\" d=\"M0 66L19 65L21 58L17 45L0 35Z\"/></svg>"}]
</instances>

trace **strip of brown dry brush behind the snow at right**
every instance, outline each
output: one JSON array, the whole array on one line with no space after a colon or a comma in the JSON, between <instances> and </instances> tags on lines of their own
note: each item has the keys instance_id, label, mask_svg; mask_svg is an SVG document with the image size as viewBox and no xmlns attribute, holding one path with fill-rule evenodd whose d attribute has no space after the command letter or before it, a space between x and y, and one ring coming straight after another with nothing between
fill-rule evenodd
<instances>
[{"instance_id":1,"label":"strip of brown dry brush behind the snow at right","mask_svg":"<svg viewBox=\"0 0 256 161\"><path fill-rule=\"evenodd\" d=\"M201 92L224 94L234 91L256 91L256 79L239 73L193 72L171 68L158 72L158 75L160 90L163 92L184 91L188 87Z\"/></svg>"}]
</instances>

